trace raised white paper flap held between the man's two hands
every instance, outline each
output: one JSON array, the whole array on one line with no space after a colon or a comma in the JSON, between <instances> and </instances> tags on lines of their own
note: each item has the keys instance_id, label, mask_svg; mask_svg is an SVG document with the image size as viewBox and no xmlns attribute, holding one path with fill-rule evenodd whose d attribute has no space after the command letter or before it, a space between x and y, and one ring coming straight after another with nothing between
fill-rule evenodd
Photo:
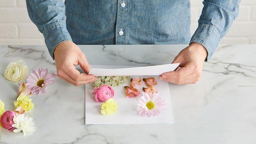
<instances>
[{"instance_id":1,"label":"raised white paper flap held between the man's two hands","mask_svg":"<svg viewBox=\"0 0 256 144\"><path fill-rule=\"evenodd\" d=\"M153 65L145 67L129 67L129 68L95 68L93 67L89 74L95 76L149 76L161 75L165 72L172 72L179 66L179 63Z\"/></svg>"}]
</instances>

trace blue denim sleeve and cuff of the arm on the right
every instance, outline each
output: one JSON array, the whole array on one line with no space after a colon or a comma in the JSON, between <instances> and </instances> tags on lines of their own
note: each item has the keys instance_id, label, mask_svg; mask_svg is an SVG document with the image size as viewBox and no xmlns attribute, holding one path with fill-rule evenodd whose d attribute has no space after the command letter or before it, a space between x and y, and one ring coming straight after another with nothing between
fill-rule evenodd
<instances>
[{"instance_id":1,"label":"blue denim sleeve and cuff of the arm on the right","mask_svg":"<svg viewBox=\"0 0 256 144\"><path fill-rule=\"evenodd\" d=\"M238 16L241 0L204 0L202 14L198 20L190 43L196 42L205 46L208 52L205 61L214 53L219 41L228 32Z\"/></svg>"}]
</instances>

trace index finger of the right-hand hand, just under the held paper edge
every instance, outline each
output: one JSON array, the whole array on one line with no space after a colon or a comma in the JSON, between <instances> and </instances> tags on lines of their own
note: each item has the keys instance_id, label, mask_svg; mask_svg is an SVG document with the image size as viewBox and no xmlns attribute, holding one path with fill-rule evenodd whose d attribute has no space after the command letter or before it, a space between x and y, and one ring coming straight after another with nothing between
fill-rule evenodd
<instances>
[{"instance_id":1,"label":"index finger of the right-hand hand, just under the held paper edge","mask_svg":"<svg viewBox=\"0 0 256 144\"><path fill-rule=\"evenodd\" d=\"M168 79L182 78L189 74L192 74L193 72L195 72L193 70L193 67L191 67L190 65L185 65L184 67L182 67L179 70L172 71L172 72L165 72L161 75L161 77L163 79L165 79L165 78L168 78Z\"/></svg>"}]
</instances>

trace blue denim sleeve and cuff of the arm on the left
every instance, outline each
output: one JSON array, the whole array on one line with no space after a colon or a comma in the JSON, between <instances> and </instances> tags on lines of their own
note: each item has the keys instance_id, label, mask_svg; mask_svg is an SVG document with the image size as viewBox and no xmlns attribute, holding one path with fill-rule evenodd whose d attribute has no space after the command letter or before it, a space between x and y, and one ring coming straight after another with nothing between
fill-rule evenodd
<instances>
[{"instance_id":1,"label":"blue denim sleeve and cuff of the arm on the left","mask_svg":"<svg viewBox=\"0 0 256 144\"><path fill-rule=\"evenodd\" d=\"M54 59L55 47L72 41L66 27L65 4L62 0L26 0L28 15L44 35L46 46Z\"/></svg>"}]
</instances>

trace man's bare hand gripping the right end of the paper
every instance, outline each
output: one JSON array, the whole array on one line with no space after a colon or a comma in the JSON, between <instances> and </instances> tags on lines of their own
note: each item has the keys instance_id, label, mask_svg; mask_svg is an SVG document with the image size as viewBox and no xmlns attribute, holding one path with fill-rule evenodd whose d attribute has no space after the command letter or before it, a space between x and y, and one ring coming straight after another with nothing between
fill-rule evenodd
<instances>
[{"instance_id":1,"label":"man's bare hand gripping the right end of the paper","mask_svg":"<svg viewBox=\"0 0 256 144\"><path fill-rule=\"evenodd\" d=\"M159 76L159 79L173 84L195 84L202 74L207 51L204 46L198 43L191 43L183 49L172 63L180 63L179 70L166 72Z\"/></svg>"}]
</instances>

